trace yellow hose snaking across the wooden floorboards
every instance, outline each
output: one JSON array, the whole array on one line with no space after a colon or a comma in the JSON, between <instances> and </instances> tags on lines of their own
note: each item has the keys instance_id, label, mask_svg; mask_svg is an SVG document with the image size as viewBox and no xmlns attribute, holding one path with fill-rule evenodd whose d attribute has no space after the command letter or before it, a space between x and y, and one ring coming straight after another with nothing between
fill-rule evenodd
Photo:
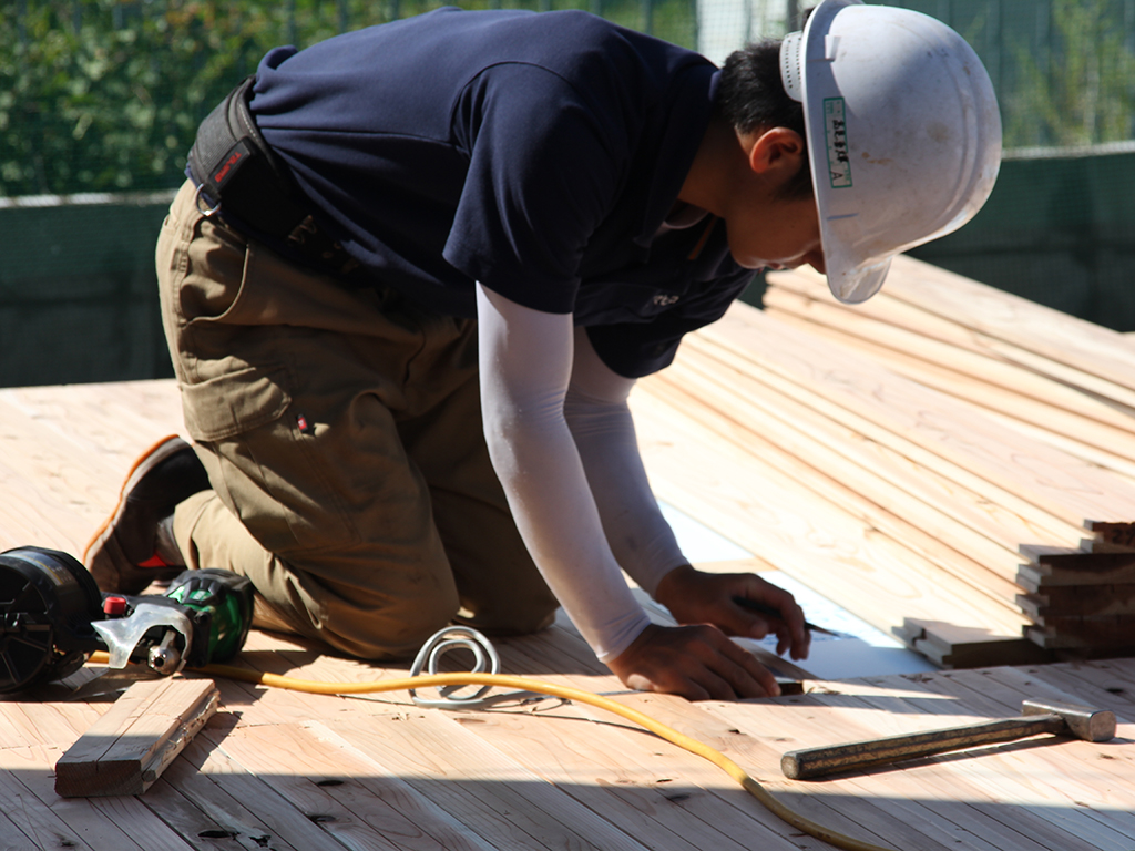
<instances>
[{"instance_id":1,"label":"yellow hose snaking across the wooden floorboards","mask_svg":"<svg viewBox=\"0 0 1135 851\"><path fill-rule=\"evenodd\" d=\"M91 662L106 663L107 655L103 652L95 652L92 655ZM776 800L776 798L774 798L768 790L750 777L749 774L741 768L741 766L721 751L715 750L708 744L699 742L697 739L692 739L684 733L680 733L673 727L670 727L662 722L651 718L649 715L638 711L637 709L631 709L619 701L611 700L609 698L605 698L589 691L582 691L581 689L555 685L553 683L546 683L539 680L529 680L522 676L508 676L506 674L421 674L418 676L407 676L397 680L382 680L370 683L333 683L319 682L316 680L297 680L291 676L279 676L278 674L267 674L258 671L233 667L232 665L213 664L192 669L210 676L224 676L230 680L241 680L247 683L253 683L255 685L270 685L277 689L304 691L312 694L373 694L384 691L484 685L498 686L503 689L519 689L521 691L548 694L563 700L574 700L580 703L588 703L589 706L595 706L599 709L605 709L608 713L620 715L623 718L627 718L627 721L638 724L644 730L648 730L655 735L665 739L667 742L676 744L679 748L683 748L690 753L695 753L709 760L737 781L746 792L756 798L774 816L788 823L792 827L804 831L810 836L815 836L817 840L823 840L824 842L835 845L836 848L846 849L847 851L894 851L893 849L883 845L874 845L869 842L864 842L836 831L829 829L823 825L801 816Z\"/></svg>"}]
</instances>

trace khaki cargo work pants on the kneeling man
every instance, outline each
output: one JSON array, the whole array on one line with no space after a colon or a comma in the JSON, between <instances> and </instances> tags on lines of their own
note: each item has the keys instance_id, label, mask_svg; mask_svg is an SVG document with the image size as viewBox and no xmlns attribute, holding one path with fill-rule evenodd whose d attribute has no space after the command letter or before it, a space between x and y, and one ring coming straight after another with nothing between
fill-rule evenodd
<instances>
[{"instance_id":1,"label":"khaki cargo work pants on the kneeling man","mask_svg":"<svg viewBox=\"0 0 1135 851\"><path fill-rule=\"evenodd\" d=\"M281 259L183 186L157 251L185 426L213 489L182 503L191 567L252 580L268 621L412 655L457 621L550 623L481 431L473 320Z\"/></svg>"}]
</instances>

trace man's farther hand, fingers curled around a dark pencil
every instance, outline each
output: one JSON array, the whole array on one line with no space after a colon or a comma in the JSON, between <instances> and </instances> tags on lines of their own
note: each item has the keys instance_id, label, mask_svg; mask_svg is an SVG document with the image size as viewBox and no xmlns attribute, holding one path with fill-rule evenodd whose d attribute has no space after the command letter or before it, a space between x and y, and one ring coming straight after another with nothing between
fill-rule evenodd
<instances>
[{"instance_id":1,"label":"man's farther hand, fingers curled around a dark pencil","mask_svg":"<svg viewBox=\"0 0 1135 851\"><path fill-rule=\"evenodd\" d=\"M735 600L764 604L780 617L751 612ZM726 635L763 639L776 634L776 652L790 650L793 659L808 658L812 633L804 626L804 610L792 595L754 573L705 573L690 565L675 567L658 583L655 599L681 624L708 623Z\"/></svg>"}]
</instances>

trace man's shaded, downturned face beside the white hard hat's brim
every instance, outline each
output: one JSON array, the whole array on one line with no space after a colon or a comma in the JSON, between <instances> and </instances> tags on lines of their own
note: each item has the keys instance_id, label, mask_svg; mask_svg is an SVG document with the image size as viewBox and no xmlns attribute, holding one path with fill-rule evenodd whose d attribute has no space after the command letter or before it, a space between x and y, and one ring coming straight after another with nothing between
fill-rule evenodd
<instances>
[{"instance_id":1,"label":"man's shaded, downturned face beside the white hard hat's brim","mask_svg":"<svg viewBox=\"0 0 1135 851\"><path fill-rule=\"evenodd\" d=\"M726 221L729 250L746 269L794 269L810 263L824 271L819 213L810 199L754 202Z\"/></svg>"}]
</instances>

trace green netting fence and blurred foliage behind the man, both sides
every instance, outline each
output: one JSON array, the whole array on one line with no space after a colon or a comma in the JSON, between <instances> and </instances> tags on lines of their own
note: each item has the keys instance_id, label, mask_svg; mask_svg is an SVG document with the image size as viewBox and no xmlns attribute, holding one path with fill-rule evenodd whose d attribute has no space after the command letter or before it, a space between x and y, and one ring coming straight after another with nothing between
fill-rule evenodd
<instances>
[{"instance_id":1,"label":"green netting fence and blurred foliage behind the man, both sides","mask_svg":"<svg viewBox=\"0 0 1135 851\"><path fill-rule=\"evenodd\" d=\"M0 386L167 376L152 248L200 119L269 48L422 0L0 1ZM802 0L474 0L583 8L721 61ZM1135 0L920 0L974 45L1010 149L993 197L924 259L1135 329ZM759 287L748 296L759 298Z\"/></svg>"}]
</instances>

